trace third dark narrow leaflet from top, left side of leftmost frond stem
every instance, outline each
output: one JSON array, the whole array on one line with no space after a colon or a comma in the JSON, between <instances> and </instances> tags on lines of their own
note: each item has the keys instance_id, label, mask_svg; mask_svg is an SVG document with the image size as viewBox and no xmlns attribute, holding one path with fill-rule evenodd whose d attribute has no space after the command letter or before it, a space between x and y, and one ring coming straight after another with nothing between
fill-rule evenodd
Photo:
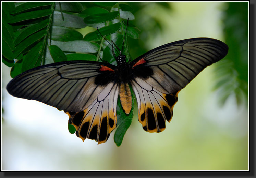
<instances>
[{"instance_id":1,"label":"third dark narrow leaflet from top, left side of leftmost frond stem","mask_svg":"<svg viewBox=\"0 0 256 178\"><path fill-rule=\"evenodd\" d=\"M31 26L28 26L25 28L25 30L22 31L22 33L16 38L15 40L15 46L19 44L22 40L27 38L29 35L37 32L38 30L41 30L42 28L46 27L49 24L49 19L43 20L40 23L33 24Z\"/></svg>"}]
</instances>

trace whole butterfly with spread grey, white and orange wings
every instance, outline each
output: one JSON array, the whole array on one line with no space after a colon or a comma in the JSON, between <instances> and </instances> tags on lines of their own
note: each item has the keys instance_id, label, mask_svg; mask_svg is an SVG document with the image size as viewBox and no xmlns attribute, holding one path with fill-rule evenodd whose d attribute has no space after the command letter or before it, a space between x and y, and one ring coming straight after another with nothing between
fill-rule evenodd
<instances>
[{"instance_id":1,"label":"whole butterfly with spread grey, white and orange wings","mask_svg":"<svg viewBox=\"0 0 256 178\"><path fill-rule=\"evenodd\" d=\"M115 58L117 66L96 61L39 66L13 78L7 91L64 110L78 137L100 144L117 125L118 96L125 113L130 113L129 85L137 98L143 129L161 132L165 121L171 121L179 91L227 53L228 46L219 40L186 39L159 46L130 63L120 52Z\"/></svg>"}]
</instances>

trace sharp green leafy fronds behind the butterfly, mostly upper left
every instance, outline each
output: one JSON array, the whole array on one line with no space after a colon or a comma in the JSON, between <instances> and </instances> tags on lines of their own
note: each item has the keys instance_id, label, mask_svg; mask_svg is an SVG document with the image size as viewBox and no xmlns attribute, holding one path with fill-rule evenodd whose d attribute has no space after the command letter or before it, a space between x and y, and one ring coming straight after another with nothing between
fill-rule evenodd
<instances>
[{"instance_id":1,"label":"sharp green leafy fronds behind the butterfly, mostly upper left","mask_svg":"<svg viewBox=\"0 0 256 178\"><path fill-rule=\"evenodd\" d=\"M12 67L11 77L61 61L103 59L115 65L112 47L106 40L123 48L129 60L126 28L126 36L139 37L135 27L127 27L127 19L134 20L131 10L117 2L2 2L2 62ZM78 29L86 27L95 30L83 36ZM125 115L119 102L117 113L114 140L120 146L133 112ZM71 125L69 130L74 133Z\"/></svg>"}]
</instances>

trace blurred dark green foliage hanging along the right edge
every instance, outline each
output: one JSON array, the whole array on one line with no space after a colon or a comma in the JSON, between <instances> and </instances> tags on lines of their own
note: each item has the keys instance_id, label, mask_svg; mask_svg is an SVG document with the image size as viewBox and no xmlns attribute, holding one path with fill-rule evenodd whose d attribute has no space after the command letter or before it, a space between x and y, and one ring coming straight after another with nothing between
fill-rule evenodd
<instances>
[{"instance_id":1,"label":"blurred dark green foliage hanging along the right edge","mask_svg":"<svg viewBox=\"0 0 256 178\"><path fill-rule=\"evenodd\" d=\"M248 106L248 2L227 2L223 17L227 56L216 63L220 104L234 95L237 104Z\"/></svg>"}]
</instances>

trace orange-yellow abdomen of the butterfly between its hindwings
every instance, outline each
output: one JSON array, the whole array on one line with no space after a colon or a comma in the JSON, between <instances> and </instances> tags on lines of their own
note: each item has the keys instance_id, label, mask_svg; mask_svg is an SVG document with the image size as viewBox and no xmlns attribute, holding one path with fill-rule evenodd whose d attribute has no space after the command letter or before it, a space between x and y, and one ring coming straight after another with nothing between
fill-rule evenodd
<instances>
[{"instance_id":1,"label":"orange-yellow abdomen of the butterfly between its hindwings","mask_svg":"<svg viewBox=\"0 0 256 178\"><path fill-rule=\"evenodd\" d=\"M132 108L132 94L128 83L120 83L119 98L123 110L126 114L129 114Z\"/></svg>"}]
</instances>

